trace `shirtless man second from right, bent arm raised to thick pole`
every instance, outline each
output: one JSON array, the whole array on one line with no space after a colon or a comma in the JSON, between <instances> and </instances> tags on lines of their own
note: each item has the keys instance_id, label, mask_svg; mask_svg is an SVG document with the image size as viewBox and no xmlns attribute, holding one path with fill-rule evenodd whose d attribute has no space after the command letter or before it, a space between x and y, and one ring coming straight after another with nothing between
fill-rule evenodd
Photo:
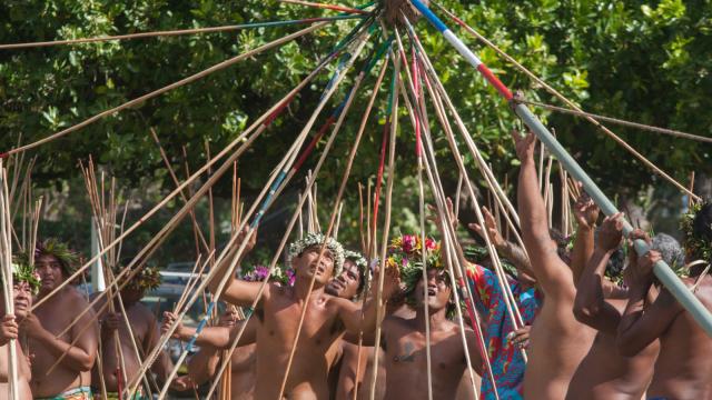
<instances>
[{"instance_id":1,"label":"shirtless man second from right, bent arm raised to thick pole","mask_svg":"<svg viewBox=\"0 0 712 400\"><path fill-rule=\"evenodd\" d=\"M621 217L622 214L616 214L603 221L595 250L578 282L574 314L578 321L599 332L589 354L574 373L566 396L568 399L639 400L653 376L657 341L631 358L621 356L615 344L616 330L627 302L627 291L607 280L605 269L622 241ZM650 242L650 238L642 231L634 232L633 238ZM625 276L634 268L630 264Z\"/></svg>"}]
</instances>

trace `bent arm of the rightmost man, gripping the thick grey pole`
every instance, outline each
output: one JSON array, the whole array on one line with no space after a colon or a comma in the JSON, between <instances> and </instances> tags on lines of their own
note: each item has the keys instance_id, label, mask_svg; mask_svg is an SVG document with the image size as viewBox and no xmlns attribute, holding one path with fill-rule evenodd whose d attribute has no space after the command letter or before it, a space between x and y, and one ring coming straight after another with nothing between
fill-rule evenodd
<instances>
[{"instance_id":1,"label":"bent arm of the rightmost man, gripping the thick grey pole","mask_svg":"<svg viewBox=\"0 0 712 400\"><path fill-rule=\"evenodd\" d=\"M660 338L683 308L662 289L657 299L650 304L647 291L653 284L653 264L661 259L660 252L650 250L640 257L634 266L629 266L631 281L630 299L617 329L619 352L632 357Z\"/></svg>"}]
</instances>

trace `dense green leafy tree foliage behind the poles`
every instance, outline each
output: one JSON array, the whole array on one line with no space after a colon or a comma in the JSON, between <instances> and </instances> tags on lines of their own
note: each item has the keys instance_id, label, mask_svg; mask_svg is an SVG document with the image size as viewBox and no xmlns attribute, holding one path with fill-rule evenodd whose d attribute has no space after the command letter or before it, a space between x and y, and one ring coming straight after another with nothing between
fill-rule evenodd
<instances>
[{"instance_id":1,"label":"dense green leafy tree foliage behind the poles","mask_svg":"<svg viewBox=\"0 0 712 400\"><path fill-rule=\"evenodd\" d=\"M345 1L346 2L346 1ZM348 1L350 6L356 2ZM469 26L552 83L585 110L654 126L712 136L712 4L709 0L587 1L537 0L512 2L443 0ZM286 20L332 14L276 1L80 1L8 0L0 4L0 42L29 42ZM443 18L445 19L445 18ZM342 21L174 90L139 107L120 112L32 150L36 194L46 207L41 233L69 239L89 249L89 218L78 160L92 156L100 168L117 177L123 198L131 200L129 222L166 196L174 183L149 134L158 132L171 164L185 178L206 161L206 143L212 154L281 99L328 53L338 38L355 24ZM531 99L557 103L542 88L451 23L482 59L511 88ZM298 27L243 30L160 39L139 39L72 47L0 51L0 150L28 143L78 123L157 88L196 73L227 58L294 32ZM520 128L507 106L484 84L465 61L425 21L417 24L421 39L454 99L469 131L484 150L501 181L514 182L516 161L510 130ZM333 71L333 66L329 71ZM347 79L332 101L343 99L353 82ZM275 124L239 160L244 200L250 202L284 157L314 109L328 73L322 73ZM388 78L389 79L389 78ZM388 79L384 83L345 199L340 239L358 243L357 182L375 177ZM337 138L332 157L318 177L322 223L328 220L344 170L346 154L358 128L375 71ZM325 120L325 113L316 127ZM656 230L674 233L684 199L669 183L654 177L625 150L585 121L536 110L556 129L592 177L620 204L642 209ZM405 110L400 110L398 159L394 194L394 229L417 228L417 181L414 138ZM711 147L650 132L615 128L614 131L663 170L682 182L696 171L698 190L710 196ZM458 179L439 127L433 119L445 186L454 192ZM182 148L187 157L184 159ZM320 151L320 144L317 150ZM464 147L461 147L464 151ZM466 156L473 179L477 171ZM313 167L316 154L307 162ZM284 232L294 202L304 186L304 173L273 207L260 230L264 261ZM554 173L556 176L556 173ZM202 179L205 181L205 179ZM477 180L482 188L482 182ZM512 186L512 184L510 184ZM218 242L229 231L231 182L222 179L214 189ZM510 188L513 197L513 189ZM176 200L125 243L125 254L140 249L181 206ZM463 203L463 219L472 218ZM201 228L208 230L207 201L198 206ZM165 264L195 257L189 219L155 256Z\"/></svg>"}]
</instances>

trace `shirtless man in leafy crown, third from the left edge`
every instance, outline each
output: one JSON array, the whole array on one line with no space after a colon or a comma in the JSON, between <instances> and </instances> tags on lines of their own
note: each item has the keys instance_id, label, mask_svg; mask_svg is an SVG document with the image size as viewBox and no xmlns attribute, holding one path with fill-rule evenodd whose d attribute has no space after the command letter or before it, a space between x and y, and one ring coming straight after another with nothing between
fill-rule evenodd
<instances>
[{"instance_id":1,"label":"shirtless man in leafy crown, third from the left edge","mask_svg":"<svg viewBox=\"0 0 712 400\"><path fill-rule=\"evenodd\" d=\"M113 299L115 312L109 312L106 308L101 314L98 314L101 324L101 367L95 366L92 370L92 382L95 393L100 393L99 373L103 376L103 382L109 399L119 398L119 387L126 389L127 382L131 382L136 378L136 372L141 366L141 361L146 354L149 354L158 344L158 321L154 312L144 306L140 300L147 290L157 288L160 284L160 276L158 270L146 268L142 272L136 274L134 280L121 290L121 300L118 297ZM120 314L121 307L119 301L123 302L126 318ZM95 304L95 310L99 312L106 303L106 297ZM131 331L136 340L136 346L131 342L129 329L126 319L131 324ZM119 343L123 363L119 358L119 351L116 342L115 332L118 331ZM138 350L138 354L137 354ZM122 370L122 368L126 370ZM172 369L172 362L166 352L161 352L159 359L152 364L151 370L156 372L160 380L165 380ZM180 388L178 388L180 389ZM146 391L139 388L137 399L146 398Z\"/></svg>"}]
</instances>

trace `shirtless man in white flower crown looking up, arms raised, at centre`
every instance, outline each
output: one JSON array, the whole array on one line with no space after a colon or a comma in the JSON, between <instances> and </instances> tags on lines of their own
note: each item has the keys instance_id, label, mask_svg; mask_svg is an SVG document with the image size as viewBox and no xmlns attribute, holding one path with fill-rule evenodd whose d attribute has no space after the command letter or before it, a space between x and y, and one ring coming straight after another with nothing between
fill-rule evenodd
<instances>
[{"instance_id":1,"label":"shirtless man in white flower crown looking up, arms raised, at centre","mask_svg":"<svg viewBox=\"0 0 712 400\"><path fill-rule=\"evenodd\" d=\"M248 240L247 249L251 249L256 234ZM340 273L344 250L335 240L328 240L324 253L319 257L323 242L324 238L320 234L310 233L289 247L290 263L296 272L294 288L268 283L260 294L260 282L247 282L229 274L221 297L224 300L240 307L249 307L254 300L259 301L255 310L261 322L257 329L255 394L258 399L275 399L279 396L305 301L308 301L308 309L284 392L290 399L327 398L328 367L333 361L325 356L327 350L345 331L357 333L362 329L375 329L375 302L369 302L362 318L362 309L357 304L324 291L334 272ZM208 284L210 291L217 290L219 280L228 267L229 262L218 267L216 279ZM390 296L397 288L397 278L389 273L386 273L386 277L388 283L384 293ZM309 293L313 279L314 288Z\"/></svg>"}]
</instances>

